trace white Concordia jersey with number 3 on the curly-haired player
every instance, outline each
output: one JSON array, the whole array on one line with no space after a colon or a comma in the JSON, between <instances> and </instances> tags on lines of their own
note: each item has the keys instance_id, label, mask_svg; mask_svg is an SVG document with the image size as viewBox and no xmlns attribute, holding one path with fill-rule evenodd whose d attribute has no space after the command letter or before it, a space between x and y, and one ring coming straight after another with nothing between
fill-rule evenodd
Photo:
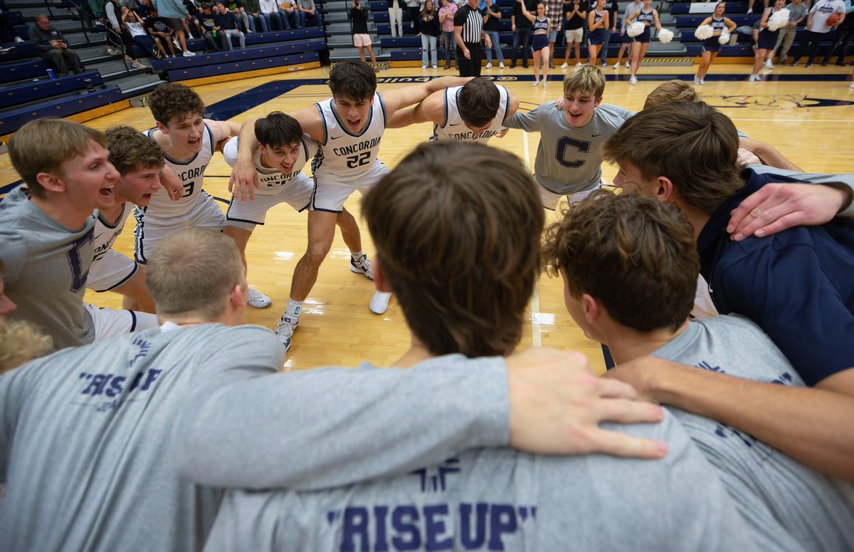
<instances>
[{"instance_id":1,"label":"white Concordia jersey with number 3 on the curly-haired player","mask_svg":"<svg viewBox=\"0 0 854 552\"><path fill-rule=\"evenodd\" d=\"M156 128L144 132L146 136L154 140ZM143 209L145 216L153 216L160 219L168 219L182 216L190 212L202 200L202 179L205 168L213 157L213 132L205 123L205 132L202 136L202 150L193 156L190 161L175 161L166 157L166 164L170 167L181 183L184 185L184 195L176 202L169 198L166 189L155 191L151 196L151 203Z\"/></svg>"}]
</instances>

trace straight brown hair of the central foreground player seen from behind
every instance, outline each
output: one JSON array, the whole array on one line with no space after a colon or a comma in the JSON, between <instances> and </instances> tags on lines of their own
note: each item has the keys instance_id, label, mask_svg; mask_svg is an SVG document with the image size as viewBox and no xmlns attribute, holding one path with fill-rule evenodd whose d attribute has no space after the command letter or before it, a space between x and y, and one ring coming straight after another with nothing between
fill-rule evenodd
<instances>
[{"instance_id":1,"label":"straight brown hair of the central foreground player seen from behind","mask_svg":"<svg viewBox=\"0 0 854 552\"><path fill-rule=\"evenodd\" d=\"M540 272L540 193L516 156L421 144L362 201L377 259L433 355L506 355Z\"/></svg>"}]
</instances>

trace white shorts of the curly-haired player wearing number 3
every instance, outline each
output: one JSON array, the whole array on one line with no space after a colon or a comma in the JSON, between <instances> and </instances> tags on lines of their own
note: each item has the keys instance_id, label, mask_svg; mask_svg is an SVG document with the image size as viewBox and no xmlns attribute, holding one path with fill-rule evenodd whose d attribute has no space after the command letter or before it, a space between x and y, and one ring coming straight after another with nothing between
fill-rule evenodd
<instances>
[{"instance_id":1,"label":"white shorts of the curly-haired player wearing number 3","mask_svg":"<svg viewBox=\"0 0 854 552\"><path fill-rule=\"evenodd\" d=\"M133 258L143 265L157 248L157 243L174 232L190 226L212 230L222 230L225 226L225 214L222 214L222 209L213 197L204 191L199 194L196 205L187 214L161 219L144 212L140 216L138 211L134 211L134 217L137 219L137 227L133 232L136 237L133 244Z\"/></svg>"}]
</instances>

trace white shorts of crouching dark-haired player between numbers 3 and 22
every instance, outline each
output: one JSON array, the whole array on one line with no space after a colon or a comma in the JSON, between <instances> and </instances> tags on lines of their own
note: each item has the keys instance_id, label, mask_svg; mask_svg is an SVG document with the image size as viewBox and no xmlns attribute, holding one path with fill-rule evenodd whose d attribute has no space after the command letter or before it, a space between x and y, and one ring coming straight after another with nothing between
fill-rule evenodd
<instances>
[{"instance_id":1,"label":"white shorts of crouching dark-haired player between numbers 3 and 22","mask_svg":"<svg viewBox=\"0 0 854 552\"><path fill-rule=\"evenodd\" d=\"M252 232L256 225L264 224L266 212L279 203L287 203L300 212L308 208L313 191L313 180L299 173L290 179L287 185L255 191L255 198L252 201L246 200L246 203L241 203L239 199L232 196L228 211L225 213L225 226L236 226Z\"/></svg>"}]
</instances>

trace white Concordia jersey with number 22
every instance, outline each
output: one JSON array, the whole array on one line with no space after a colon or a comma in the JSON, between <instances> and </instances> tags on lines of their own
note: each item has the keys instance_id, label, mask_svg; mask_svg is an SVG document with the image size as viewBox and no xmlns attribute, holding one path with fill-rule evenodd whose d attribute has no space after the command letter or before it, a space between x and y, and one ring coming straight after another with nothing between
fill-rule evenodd
<instances>
[{"instance_id":1,"label":"white Concordia jersey with number 22","mask_svg":"<svg viewBox=\"0 0 854 552\"><path fill-rule=\"evenodd\" d=\"M314 105L324 125L324 141L312 161L315 181L349 182L359 179L377 164L379 143L386 125L383 98L374 94L368 120L359 134L348 131L331 98Z\"/></svg>"}]
</instances>

